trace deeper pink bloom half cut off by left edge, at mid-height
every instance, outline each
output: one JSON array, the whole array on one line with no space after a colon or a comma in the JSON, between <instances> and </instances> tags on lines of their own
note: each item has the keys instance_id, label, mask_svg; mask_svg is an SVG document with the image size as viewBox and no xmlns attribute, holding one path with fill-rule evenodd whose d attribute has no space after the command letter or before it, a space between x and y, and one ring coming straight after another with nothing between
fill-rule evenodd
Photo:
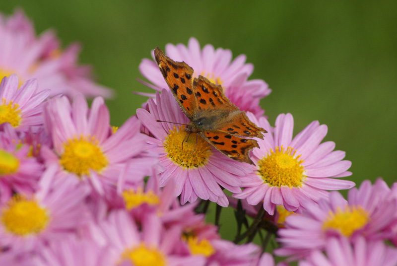
<instances>
[{"instance_id":1,"label":"deeper pink bloom half cut off by left edge, at mid-height","mask_svg":"<svg viewBox=\"0 0 397 266\"><path fill-rule=\"evenodd\" d=\"M0 132L0 202L8 200L13 191L32 193L43 173L43 166L30 156L30 146L21 143L15 130L3 125Z\"/></svg>"}]
</instances>

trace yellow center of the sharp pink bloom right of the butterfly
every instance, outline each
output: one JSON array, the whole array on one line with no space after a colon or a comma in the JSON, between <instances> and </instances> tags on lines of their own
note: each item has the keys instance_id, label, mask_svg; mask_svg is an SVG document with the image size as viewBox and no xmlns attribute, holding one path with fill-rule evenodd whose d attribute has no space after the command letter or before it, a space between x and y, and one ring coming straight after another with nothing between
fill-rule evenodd
<instances>
[{"instance_id":1,"label":"yellow center of the sharp pink bloom right of the butterfly","mask_svg":"<svg viewBox=\"0 0 397 266\"><path fill-rule=\"evenodd\" d=\"M275 152L270 149L270 154L258 161L258 174L264 183L271 187L300 187L305 178L303 160L298 160L301 155L295 156L295 152L292 147L275 147Z\"/></svg>"}]
</instances>

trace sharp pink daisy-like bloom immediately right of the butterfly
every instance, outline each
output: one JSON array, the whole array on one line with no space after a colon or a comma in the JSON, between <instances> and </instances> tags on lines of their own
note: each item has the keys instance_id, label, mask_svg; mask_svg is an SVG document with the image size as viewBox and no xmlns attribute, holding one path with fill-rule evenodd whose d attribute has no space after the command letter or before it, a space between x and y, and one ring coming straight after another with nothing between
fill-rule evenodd
<instances>
[{"instance_id":1,"label":"sharp pink daisy-like bloom immediately right of the butterfly","mask_svg":"<svg viewBox=\"0 0 397 266\"><path fill-rule=\"evenodd\" d=\"M342 161L343 151L332 151L335 143L321 140L327 134L327 126L318 121L310 123L292 138L293 118L281 114L274 130L267 120L259 120L251 114L249 119L267 132L264 139L257 139L260 148L254 148L251 159L257 166L257 178L243 184L244 191L234 194L237 199L247 199L251 205L263 201L265 210L273 215L276 205L287 211L301 212L305 206L319 199L328 198L327 190L349 189L351 181L339 177L351 175L351 162Z\"/></svg>"}]
</instances>

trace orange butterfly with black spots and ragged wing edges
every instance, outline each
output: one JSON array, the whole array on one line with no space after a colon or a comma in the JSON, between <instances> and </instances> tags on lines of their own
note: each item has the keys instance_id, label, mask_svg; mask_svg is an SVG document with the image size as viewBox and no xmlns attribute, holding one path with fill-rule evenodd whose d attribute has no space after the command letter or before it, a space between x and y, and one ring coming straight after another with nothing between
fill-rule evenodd
<instances>
[{"instance_id":1,"label":"orange butterfly with black spots and ragged wing edges","mask_svg":"<svg viewBox=\"0 0 397 266\"><path fill-rule=\"evenodd\" d=\"M224 155L250 164L249 152L259 147L255 139L264 138L263 128L252 123L245 112L232 104L222 86L199 75L193 78L193 68L185 62L175 62L158 47L154 58L182 112L190 120L185 131L197 133Z\"/></svg>"}]
</instances>

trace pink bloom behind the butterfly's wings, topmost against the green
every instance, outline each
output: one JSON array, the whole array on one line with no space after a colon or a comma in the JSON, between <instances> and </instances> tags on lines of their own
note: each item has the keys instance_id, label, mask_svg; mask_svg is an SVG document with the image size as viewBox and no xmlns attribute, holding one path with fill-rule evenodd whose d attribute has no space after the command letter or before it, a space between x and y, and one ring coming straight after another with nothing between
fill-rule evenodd
<instances>
[{"instance_id":1,"label":"pink bloom behind the butterfly's wings, topmost against the green","mask_svg":"<svg viewBox=\"0 0 397 266\"><path fill-rule=\"evenodd\" d=\"M192 67L195 77L202 75L212 83L222 85L226 97L241 110L250 111L258 117L264 113L259 106L259 100L267 96L271 90L262 79L247 80L254 66L245 64L245 55L240 55L232 61L230 50L215 50L209 44L201 50L195 38L190 38L187 47L183 44L167 44L165 54L174 61L184 61ZM153 52L152 58L154 59ZM156 90L168 89L155 61L143 59L139 71L152 83L145 83L147 86Z\"/></svg>"}]
</instances>

